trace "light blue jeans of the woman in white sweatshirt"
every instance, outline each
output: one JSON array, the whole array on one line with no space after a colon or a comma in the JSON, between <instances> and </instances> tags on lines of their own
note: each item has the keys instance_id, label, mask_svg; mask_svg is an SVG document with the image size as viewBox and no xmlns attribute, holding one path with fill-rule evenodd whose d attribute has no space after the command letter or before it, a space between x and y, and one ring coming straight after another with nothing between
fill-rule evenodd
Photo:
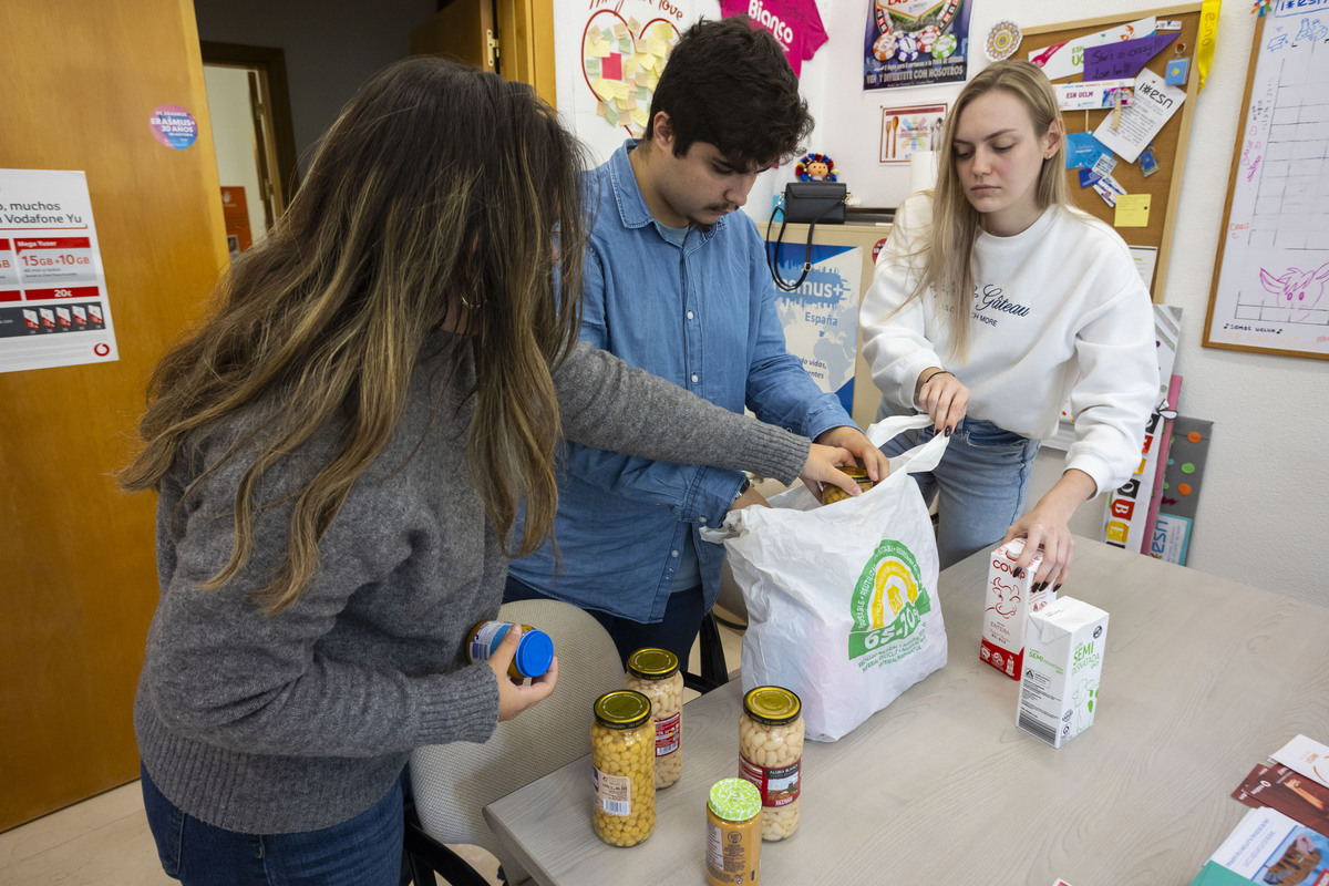
<instances>
[{"instance_id":1,"label":"light blue jeans of the woman in white sweatshirt","mask_svg":"<svg viewBox=\"0 0 1329 886\"><path fill-rule=\"evenodd\" d=\"M932 425L906 430L886 441L881 452L898 456L932 437ZM913 476L925 502L941 494L937 502L941 569L993 547L1006 535L1025 513L1037 453L1037 440L1002 430L990 421L965 418L952 432L941 464Z\"/></svg>"}]
</instances>

